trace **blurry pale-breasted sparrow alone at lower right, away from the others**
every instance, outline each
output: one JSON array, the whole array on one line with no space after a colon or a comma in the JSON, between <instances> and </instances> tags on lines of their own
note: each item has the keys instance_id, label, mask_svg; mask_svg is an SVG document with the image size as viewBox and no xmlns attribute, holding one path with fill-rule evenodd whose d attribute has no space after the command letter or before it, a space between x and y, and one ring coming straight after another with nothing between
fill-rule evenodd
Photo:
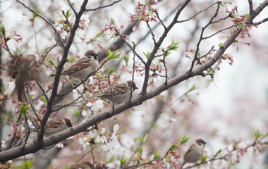
<instances>
[{"instance_id":1,"label":"blurry pale-breasted sparrow alone at lower right, away from the others","mask_svg":"<svg viewBox=\"0 0 268 169\"><path fill-rule=\"evenodd\" d=\"M204 154L205 144L207 143L204 142L202 139L195 140L195 143L190 146L188 151L186 151L181 168L183 168L183 165L185 165L185 163L195 163L199 161Z\"/></svg>"}]
</instances>

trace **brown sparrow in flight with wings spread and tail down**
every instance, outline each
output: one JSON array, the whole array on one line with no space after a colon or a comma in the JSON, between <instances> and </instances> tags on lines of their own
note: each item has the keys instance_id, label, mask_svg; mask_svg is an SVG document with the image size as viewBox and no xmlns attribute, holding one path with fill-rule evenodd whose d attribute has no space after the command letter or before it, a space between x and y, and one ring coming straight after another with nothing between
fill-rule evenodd
<instances>
[{"instance_id":1,"label":"brown sparrow in flight with wings spread and tail down","mask_svg":"<svg viewBox=\"0 0 268 169\"><path fill-rule=\"evenodd\" d=\"M35 80L38 82L47 82L47 75L43 68L37 63L35 55L15 56L8 63L7 73L15 79L16 87L11 96L18 94L18 101L27 104L29 99L25 92L25 82Z\"/></svg>"}]
</instances>

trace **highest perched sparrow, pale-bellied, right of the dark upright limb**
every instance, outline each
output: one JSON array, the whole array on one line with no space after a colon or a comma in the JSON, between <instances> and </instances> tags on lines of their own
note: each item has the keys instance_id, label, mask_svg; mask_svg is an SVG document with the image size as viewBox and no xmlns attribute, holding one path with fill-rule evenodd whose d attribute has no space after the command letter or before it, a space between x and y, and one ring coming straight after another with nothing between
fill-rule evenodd
<instances>
[{"instance_id":1,"label":"highest perched sparrow, pale-bellied, right of the dark upright limb","mask_svg":"<svg viewBox=\"0 0 268 169\"><path fill-rule=\"evenodd\" d=\"M97 54L93 50L85 52L85 56L71 66L68 70L61 73L61 75L70 75L80 80L84 80L90 73L97 70L99 61L97 60Z\"/></svg>"}]
</instances>

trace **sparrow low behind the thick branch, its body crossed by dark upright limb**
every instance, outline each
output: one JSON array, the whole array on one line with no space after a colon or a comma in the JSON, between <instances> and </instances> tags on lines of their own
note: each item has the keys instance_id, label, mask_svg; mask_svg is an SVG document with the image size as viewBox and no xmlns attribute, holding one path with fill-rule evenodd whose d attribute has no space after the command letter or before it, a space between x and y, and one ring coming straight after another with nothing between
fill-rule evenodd
<instances>
[{"instance_id":1,"label":"sparrow low behind the thick branch, its body crossed by dark upright limb","mask_svg":"<svg viewBox=\"0 0 268 169\"><path fill-rule=\"evenodd\" d=\"M49 137L53 134L68 129L68 127L72 127L71 120L68 118L48 120L46 128L44 130L44 136ZM40 125L37 125L37 128L39 130ZM37 129L36 128L30 129L30 131L37 132Z\"/></svg>"}]
</instances>

